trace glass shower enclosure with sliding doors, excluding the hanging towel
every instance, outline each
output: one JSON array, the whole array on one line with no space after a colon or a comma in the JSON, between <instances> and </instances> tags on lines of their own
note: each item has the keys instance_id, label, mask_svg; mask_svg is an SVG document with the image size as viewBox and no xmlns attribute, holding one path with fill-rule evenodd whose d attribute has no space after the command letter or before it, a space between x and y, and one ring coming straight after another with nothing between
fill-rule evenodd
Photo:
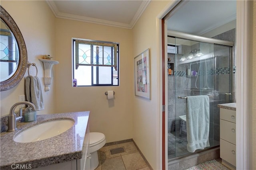
<instances>
[{"instance_id":1,"label":"glass shower enclosure with sliding doors, excluding the hanging towel","mask_svg":"<svg viewBox=\"0 0 256 170\"><path fill-rule=\"evenodd\" d=\"M191 154L187 150L186 96L209 96L210 147L205 149L220 145L217 105L232 102L233 43L195 39L168 36L168 160Z\"/></svg>"}]
</instances>

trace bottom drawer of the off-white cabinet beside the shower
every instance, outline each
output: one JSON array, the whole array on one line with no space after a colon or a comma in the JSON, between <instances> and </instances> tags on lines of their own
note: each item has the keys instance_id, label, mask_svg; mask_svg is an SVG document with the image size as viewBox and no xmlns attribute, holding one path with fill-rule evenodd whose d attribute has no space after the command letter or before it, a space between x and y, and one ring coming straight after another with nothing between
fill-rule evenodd
<instances>
[{"instance_id":1,"label":"bottom drawer of the off-white cabinet beside the shower","mask_svg":"<svg viewBox=\"0 0 256 170\"><path fill-rule=\"evenodd\" d=\"M220 158L236 166L236 145L220 139Z\"/></svg>"}]
</instances>

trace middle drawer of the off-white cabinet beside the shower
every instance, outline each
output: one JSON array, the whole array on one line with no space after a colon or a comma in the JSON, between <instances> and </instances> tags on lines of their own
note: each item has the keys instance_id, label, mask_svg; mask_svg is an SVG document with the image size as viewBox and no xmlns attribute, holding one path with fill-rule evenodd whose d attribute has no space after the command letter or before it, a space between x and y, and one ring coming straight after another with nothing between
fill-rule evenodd
<instances>
[{"instance_id":1,"label":"middle drawer of the off-white cabinet beside the shower","mask_svg":"<svg viewBox=\"0 0 256 170\"><path fill-rule=\"evenodd\" d=\"M220 119L220 139L236 145L236 123Z\"/></svg>"}]
</instances>

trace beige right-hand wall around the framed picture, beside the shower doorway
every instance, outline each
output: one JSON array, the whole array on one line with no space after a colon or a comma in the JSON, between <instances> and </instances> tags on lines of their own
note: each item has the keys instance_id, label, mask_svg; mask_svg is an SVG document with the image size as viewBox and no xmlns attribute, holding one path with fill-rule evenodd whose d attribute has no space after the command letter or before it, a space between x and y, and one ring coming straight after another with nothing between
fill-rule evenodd
<instances>
[{"instance_id":1,"label":"beige right-hand wall around the framed picture, beside the shower doorway","mask_svg":"<svg viewBox=\"0 0 256 170\"><path fill-rule=\"evenodd\" d=\"M133 96L133 139L153 169L159 164L159 39L157 16L170 1L151 1L134 28L133 57L150 48L151 100Z\"/></svg>"}]
</instances>

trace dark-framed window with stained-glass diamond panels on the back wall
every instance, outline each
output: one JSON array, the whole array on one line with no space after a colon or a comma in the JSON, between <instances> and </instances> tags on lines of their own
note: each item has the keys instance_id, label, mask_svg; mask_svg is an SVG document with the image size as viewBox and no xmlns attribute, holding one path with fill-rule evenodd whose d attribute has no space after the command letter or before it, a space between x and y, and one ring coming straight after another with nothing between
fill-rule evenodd
<instances>
[{"instance_id":1,"label":"dark-framed window with stained-glass diamond panels on the back wall","mask_svg":"<svg viewBox=\"0 0 256 170\"><path fill-rule=\"evenodd\" d=\"M118 43L73 39L77 86L118 86Z\"/></svg>"}]
</instances>

